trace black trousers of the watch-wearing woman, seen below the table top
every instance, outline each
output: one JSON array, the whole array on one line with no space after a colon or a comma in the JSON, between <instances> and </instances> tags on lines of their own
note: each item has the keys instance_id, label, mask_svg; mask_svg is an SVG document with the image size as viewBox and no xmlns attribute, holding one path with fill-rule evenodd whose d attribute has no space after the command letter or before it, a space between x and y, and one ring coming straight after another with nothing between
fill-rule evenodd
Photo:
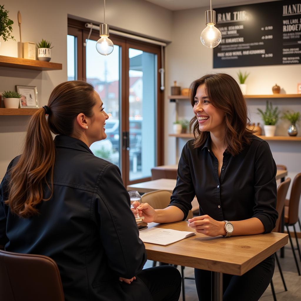
<instances>
[{"instance_id":1,"label":"black trousers of the watch-wearing woman, seen below the table top","mask_svg":"<svg viewBox=\"0 0 301 301\"><path fill-rule=\"evenodd\" d=\"M257 301L270 284L275 269L274 254L242 276L223 275L223 301ZM194 269L200 301L211 301L211 272Z\"/></svg>"}]
</instances>

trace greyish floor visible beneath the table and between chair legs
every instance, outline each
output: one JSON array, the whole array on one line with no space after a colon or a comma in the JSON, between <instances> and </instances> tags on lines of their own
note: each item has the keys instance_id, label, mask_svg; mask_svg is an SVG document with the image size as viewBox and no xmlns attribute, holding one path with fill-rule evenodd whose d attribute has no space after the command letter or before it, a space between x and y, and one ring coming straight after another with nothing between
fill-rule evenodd
<instances>
[{"instance_id":1,"label":"greyish floor visible beneath the table and between chair legs","mask_svg":"<svg viewBox=\"0 0 301 301\"><path fill-rule=\"evenodd\" d=\"M293 243L295 243L295 239L293 238ZM301 246L301 239L299 239L299 245ZM297 251L296 256L299 260L299 256ZM298 272L296 269L296 264L293 259L293 253L288 244L285 247L285 258L280 258L278 252L279 261L281 264L282 272L284 275L284 280L287 286L287 292L284 290L282 280L278 271L277 264L275 263L275 272L273 276L273 283L276 292L277 301L301 301L301 276L298 276ZM145 267L151 267L152 261L147 261ZM301 269L301 262L299 261L299 267ZM186 267L185 268L185 276L186 277L194 277L194 269ZM182 301L182 293L179 299ZM260 301L273 301L273 295L271 286L269 286L262 297L259 299ZM197 291L195 288L194 280L185 279L185 301L198 301ZM242 300L243 301L243 300Z\"/></svg>"}]
</instances>

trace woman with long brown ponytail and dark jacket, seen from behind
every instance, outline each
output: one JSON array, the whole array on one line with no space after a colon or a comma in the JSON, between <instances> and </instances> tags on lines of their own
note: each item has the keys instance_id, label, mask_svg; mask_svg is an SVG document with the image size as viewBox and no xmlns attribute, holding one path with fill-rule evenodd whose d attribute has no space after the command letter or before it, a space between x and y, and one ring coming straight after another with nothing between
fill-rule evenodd
<instances>
[{"instance_id":1,"label":"woman with long brown ponytail and dark jacket, seen from behind","mask_svg":"<svg viewBox=\"0 0 301 301\"><path fill-rule=\"evenodd\" d=\"M54 259L66 301L178 300L177 269L142 270L145 247L118 167L89 149L107 137L106 119L87 82L54 88L2 180L0 245Z\"/></svg>"}]
</instances>

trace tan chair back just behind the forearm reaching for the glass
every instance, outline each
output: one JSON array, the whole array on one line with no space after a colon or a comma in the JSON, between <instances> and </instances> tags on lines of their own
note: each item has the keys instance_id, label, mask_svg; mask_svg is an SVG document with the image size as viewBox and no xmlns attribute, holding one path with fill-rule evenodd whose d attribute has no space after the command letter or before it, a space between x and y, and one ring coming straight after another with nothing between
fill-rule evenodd
<instances>
[{"instance_id":1,"label":"tan chair back just behind the forearm reaching for the glass","mask_svg":"<svg viewBox=\"0 0 301 301\"><path fill-rule=\"evenodd\" d=\"M168 190L147 192L141 196L141 203L149 203L154 209L164 209L169 205L171 195L171 192ZM189 210L186 220L192 217L192 211Z\"/></svg>"}]
</instances>

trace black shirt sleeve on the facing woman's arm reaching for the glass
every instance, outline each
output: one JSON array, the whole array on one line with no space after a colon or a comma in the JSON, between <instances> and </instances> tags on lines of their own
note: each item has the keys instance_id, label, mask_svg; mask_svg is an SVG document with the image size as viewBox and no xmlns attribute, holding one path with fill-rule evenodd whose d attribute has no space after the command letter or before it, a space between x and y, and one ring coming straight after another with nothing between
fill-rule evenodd
<instances>
[{"instance_id":1,"label":"black shirt sleeve on the facing woman's arm reaching for the glass","mask_svg":"<svg viewBox=\"0 0 301 301\"><path fill-rule=\"evenodd\" d=\"M172 192L171 201L169 204L169 206L176 206L183 211L183 220L186 219L189 210L192 209L191 202L195 196L188 160L188 143L189 141L185 144L182 150L178 165L177 184Z\"/></svg>"}]
</instances>

